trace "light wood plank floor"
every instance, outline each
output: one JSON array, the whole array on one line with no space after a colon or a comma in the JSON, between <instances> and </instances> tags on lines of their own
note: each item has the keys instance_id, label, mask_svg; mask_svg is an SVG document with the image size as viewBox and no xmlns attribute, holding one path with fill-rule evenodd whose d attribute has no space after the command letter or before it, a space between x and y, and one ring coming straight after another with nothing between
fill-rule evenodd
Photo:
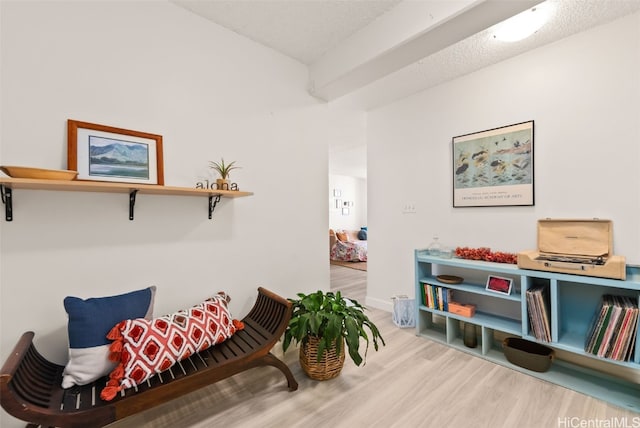
<instances>
[{"instance_id":1,"label":"light wood plank floor","mask_svg":"<svg viewBox=\"0 0 640 428\"><path fill-rule=\"evenodd\" d=\"M366 275L331 266L332 288L363 303ZM313 381L300 369L297 349L283 356L278 346L274 354L293 371L296 392L278 370L258 368L111 427L640 426L640 414L416 337L388 312L368 312L387 346L370 349L363 367L348 360L338 378Z\"/></svg>"}]
</instances>

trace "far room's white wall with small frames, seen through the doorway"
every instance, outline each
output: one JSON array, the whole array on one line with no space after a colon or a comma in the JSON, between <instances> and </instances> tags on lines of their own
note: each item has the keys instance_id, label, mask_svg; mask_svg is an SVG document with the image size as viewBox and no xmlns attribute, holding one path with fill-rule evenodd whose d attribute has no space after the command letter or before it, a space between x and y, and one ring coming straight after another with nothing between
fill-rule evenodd
<instances>
[{"instance_id":1,"label":"far room's white wall with small frames, seen through the doorway","mask_svg":"<svg viewBox=\"0 0 640 428\"><path fill-rule=\"evenodd\" d=\"M338 190L340 196L335 196ZM338 208L336 201L342 202ZM352 206L344 207L344 202L353 202ZM344 215L342 207L348 208ZM367 180L347 175L329 175L329 227L338 230L360 230L367 225Z\"/></svg>"}]
</instances>

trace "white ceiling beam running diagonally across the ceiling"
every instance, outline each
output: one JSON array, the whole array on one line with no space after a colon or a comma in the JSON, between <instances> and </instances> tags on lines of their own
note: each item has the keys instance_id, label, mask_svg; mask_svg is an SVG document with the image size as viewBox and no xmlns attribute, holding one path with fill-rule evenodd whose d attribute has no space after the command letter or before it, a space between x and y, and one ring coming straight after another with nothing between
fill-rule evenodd
<instances>
[{"instance_id":1,"label":"white ceiling beam running diagonally across the ceiling","mask_svg":"<svg viewBox=\"0 0 640 428\"><path fill-rule=\"evenodd\" d=\"M540 2L403 2L312 64L309 92L336 100Z\"/></svg>"}]
</instances>

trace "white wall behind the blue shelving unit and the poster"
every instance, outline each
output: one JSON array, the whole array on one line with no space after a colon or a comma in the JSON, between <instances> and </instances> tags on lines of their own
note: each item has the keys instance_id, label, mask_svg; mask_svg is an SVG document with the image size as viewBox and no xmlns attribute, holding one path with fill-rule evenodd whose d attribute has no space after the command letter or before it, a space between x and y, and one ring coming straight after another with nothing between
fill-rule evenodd
<instances>
[{"instance_id":1,"label":"white wall behind the blue shelving unit and the poster","mask_svg":"<svg viewBox=\"0 0 640 428\"><path fill-rule=\"evenodd\" d=\"M535 121L535 206L452 208L451 138ZM613 220L640 264L640 14L377 109L367 118L367 303L414 291L413 250L536 248L540 218ZM388 176L388 165L403 165ZM415 201L416 214L402 214Z\"/></svg>"}]
</instances>

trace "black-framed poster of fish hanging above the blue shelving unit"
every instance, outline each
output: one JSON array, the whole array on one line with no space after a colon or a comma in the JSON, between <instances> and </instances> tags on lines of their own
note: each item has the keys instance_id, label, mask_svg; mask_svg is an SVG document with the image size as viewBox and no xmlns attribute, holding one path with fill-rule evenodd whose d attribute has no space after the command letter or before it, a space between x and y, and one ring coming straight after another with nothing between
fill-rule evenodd
<instances>
[{"instance_id":1,"label":"black-framed poster of fish hanging above the blue shelving unit","mask_svg":"<svg viewBox=\"0 0 640 428\"><path fill-rule=\"evenodd\" d=\"M452 139L453 207L532 206L534 121Z\"/></svg>"}]
</instances>

